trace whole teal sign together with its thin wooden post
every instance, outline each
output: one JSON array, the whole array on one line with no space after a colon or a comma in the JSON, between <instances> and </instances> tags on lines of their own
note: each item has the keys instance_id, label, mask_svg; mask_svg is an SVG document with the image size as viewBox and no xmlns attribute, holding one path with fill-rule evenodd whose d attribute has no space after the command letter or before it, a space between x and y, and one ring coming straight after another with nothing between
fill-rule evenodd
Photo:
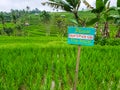
<instances>
[{"instance_id":1,"label":"whole teal sign together with its thin wooden post","mask_svg":"<svg viewBox=\"0 0 120 90\"><path fill-rule=\"evenodd\" d=\"M79 71L79 63L80 63L81 46L93 46L94 35L95 35L94 28L68 27L68 44L78 45L73 90L76 90L77 82L78 82L78 71Z\"/></svg>"}]
</instances>

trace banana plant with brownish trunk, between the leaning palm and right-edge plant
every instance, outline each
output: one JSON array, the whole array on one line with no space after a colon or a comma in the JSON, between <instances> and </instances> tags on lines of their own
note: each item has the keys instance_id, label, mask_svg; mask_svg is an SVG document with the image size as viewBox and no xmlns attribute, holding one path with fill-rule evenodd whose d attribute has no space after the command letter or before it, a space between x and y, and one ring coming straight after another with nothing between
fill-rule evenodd
<instances>
[{"instance_id":1,"label":"banana plant with brownish trunk, between the leaning palm and right-edge plant","mask_svg":"<svg viewBox=\"0 0 120 90\"><path fill-rule=\"evenodd\" d=\"M91 9L91 12L96 15L96 18L92 19L89 23L99 22L102 18L104 18L104 29L102 35L104 37L110 37L109 34L109 19L110 19L110 11L113 8L110 7L109 0L96 0L95 8L93 8L86 0L84 0L84 4Z\"/></svg>"}]
</instances>

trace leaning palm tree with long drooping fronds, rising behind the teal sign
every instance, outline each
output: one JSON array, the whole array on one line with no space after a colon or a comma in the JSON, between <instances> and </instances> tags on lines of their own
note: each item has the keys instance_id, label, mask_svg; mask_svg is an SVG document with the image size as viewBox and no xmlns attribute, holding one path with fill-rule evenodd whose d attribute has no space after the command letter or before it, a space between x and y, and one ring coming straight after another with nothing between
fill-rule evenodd
<instances>
[{"instance_id":1,"label":"leaning palm tree with long drooping fronds, rising behind the teal sign","mask_svg":"<svg viewBox=\"0 0 120 90\"><path fill-rule=\"evenodd\" d=\"M78 25L84 26L84 21L78 15L81 0L49 0L48 2L43 2L42 4L47 4L56 9L60 8L64 11L73 13Z\"/></svg>"}]
</instances>

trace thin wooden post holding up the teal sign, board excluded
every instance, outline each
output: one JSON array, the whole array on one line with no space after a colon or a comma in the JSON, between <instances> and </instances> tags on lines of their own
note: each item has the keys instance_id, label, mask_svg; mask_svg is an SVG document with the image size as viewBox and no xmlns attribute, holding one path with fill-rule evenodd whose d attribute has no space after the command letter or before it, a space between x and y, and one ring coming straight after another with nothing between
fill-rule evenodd
<instances>
[{"instance_id":1,"label":"thin wooden post holding up the teal sign, board excluded","mask_svg":"<svg viewBox=\"0 0 120 90\"><path fill-rule=\"evenodd\" d=\"M79 63L80 63L80 50L81 50L81 46L78 46L78 53L77 53L77 60L76 60L76 70L75 70L75 78L74 78L73 90L76 90L77 82L78 82L78 72L79 72Z\"/></svg>"}]
</instances>

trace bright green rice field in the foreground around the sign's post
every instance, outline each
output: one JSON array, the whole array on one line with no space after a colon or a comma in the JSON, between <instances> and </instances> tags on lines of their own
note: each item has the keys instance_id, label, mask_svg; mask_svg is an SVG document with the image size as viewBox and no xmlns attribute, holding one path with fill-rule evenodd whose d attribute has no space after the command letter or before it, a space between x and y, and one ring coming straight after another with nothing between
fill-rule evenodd
<instances>
[{"instance_id":1,"label":"bright green rice field in the foreground around the sign's post","mask_svg":"<svg viewBox=\"0 0 120 90\"><path fill-rule=\"evenodd\" d=\"M0 90L72 90L77 46L66 38L0 37ZM77 90L120 90L120 47L82 47Z\"/></svg>"}]
</instances>

